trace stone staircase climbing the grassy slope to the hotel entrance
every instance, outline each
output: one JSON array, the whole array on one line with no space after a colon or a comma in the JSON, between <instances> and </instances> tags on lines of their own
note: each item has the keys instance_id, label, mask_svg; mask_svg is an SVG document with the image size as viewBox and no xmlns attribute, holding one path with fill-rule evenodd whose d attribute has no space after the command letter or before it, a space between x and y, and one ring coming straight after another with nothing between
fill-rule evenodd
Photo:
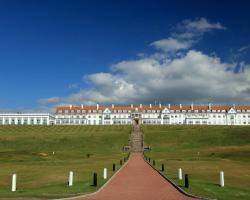
<instances>
[{"instance_id":1,"label":"stone staircase climbing the grassy slope to the hotel entrance","mask_svg":"<svg viewBox=\"0 0 250 200\"><path fill-rule=\"evenodd\" d=\"M133 130L130 136L131 151L142 152L143 151L143 136L140 130L140 125L134 124Z\"/></svg>"}]
</instances>

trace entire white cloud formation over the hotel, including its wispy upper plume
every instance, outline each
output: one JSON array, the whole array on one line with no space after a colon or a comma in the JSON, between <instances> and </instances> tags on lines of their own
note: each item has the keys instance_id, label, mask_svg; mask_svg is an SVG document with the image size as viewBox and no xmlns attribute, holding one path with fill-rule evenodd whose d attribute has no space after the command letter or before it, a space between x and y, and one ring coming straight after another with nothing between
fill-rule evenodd
<instances>
[{"instance_id":1,"label":"entire white cloud formation over the hotel, including its wispy upper plume","mask_svg":"<svg viewBox=\"0 0 250 200\"><path fill-rule=\"evenodd\" d=\"M189 49L199 37L214 29L226 28L205 18L184 20L170 38L152 43L163 52L115 63L108 73L85 75L83 81L89 84L88 88L66 97L42 99L40 103L93 105L160 101L247 104L250 99L249 64L222 62L216 54L206 55ZM178 52L180 49L186 51ZM169 56L169 51L175 52L174 55Z\"/></svg>"}]
</instances>

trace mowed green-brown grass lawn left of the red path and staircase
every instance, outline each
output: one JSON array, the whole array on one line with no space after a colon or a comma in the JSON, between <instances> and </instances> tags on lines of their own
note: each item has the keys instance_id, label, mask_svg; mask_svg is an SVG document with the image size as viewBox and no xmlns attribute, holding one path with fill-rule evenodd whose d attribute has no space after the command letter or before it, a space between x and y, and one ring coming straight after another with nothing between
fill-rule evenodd
<instances>
[{"instance_id":1,"label":"mowed green-brown grass lawn left of the red path and staircase","mask_svg":"<svg viewBox=\"0 0 250 200\"><path fill-rule=\"evenodd\" d=\"M93 192L127 154L131 126L0 126L0 198L58 198ZM54 154L53 154L54 152ZM90 157L87 157L90 154ZM74 185L68 187L69 171ZM93 172L98 187L91 186ZM17 191L11 176L17 174Z\"/></svg>"}]
</instances>

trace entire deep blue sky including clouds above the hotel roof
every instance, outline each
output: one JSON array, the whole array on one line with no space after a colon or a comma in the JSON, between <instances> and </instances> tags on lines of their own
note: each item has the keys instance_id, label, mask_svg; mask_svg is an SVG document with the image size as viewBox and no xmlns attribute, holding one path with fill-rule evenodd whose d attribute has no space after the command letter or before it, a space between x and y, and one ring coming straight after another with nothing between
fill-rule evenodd
<instances>
[{"instance_id":1,"label":"entire deep blue sky including clouds above the hotel roof","mask_svg":"<svg viewBox=\"0 0 250 200\"><path fill-rule=\"evenodd\" d=\"M0 109L249 104L249 8L236 0L1 0Z\"/></svg>"}]
</instances>

